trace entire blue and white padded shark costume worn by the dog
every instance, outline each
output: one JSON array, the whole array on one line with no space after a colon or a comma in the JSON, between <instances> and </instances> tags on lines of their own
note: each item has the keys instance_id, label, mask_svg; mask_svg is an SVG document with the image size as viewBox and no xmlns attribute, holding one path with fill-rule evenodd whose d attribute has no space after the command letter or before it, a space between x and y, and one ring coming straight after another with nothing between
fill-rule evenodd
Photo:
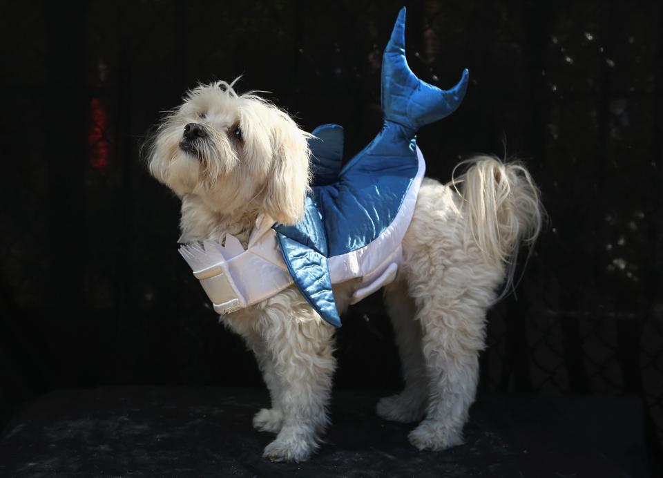
<instances>
[{"instance_id":1,"label":"entire blue and white padded shark costume worn by the dog","mask_svg":"<svg viewBox=\"0 0 663 478\"><path fill-rule=\"evenodd\" d=\"M343 167L343 128L327 124L313 131L314 183L304 219L287 226L259 216L247 249L231 235L223 246L180 247L215 311L256 305L294 283L325 321L340 327L332 284L359 279L356 303L392 282L425 171L416 131L453 113L467 86L468 70L451 90L412 73L403 8L383 55L382 130Z\"/></svg>"}]
</instances>

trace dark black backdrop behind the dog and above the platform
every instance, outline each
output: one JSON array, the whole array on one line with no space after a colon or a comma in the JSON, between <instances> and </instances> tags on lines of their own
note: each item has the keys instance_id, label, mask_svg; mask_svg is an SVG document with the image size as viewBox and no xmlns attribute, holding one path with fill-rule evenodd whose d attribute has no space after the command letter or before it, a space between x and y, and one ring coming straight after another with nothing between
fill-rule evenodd
<instances>
[{"instance_id":1,"label":"dark black backdrop behind the dog and above the platform","mask_svg":"<svg viewBox=\"0 0 663 478\"><path fill-rule=\"evenodd\" d=\"M548 224L490 312L480 392L628 394L663 436L663 7L655 1L406 2L407 55L459 111L423 128L428 175L523 158ZM381 124L401 1L0 3L0 423L100 384L262 386L177 254L178 202L140 144L197 82L244 75L307 131ZM519 271L520 272L520 271ZM378 295L378 294L376 294ZM338 388L396 388L371 297L343 318Z\"/></svg>"}]
</instances>

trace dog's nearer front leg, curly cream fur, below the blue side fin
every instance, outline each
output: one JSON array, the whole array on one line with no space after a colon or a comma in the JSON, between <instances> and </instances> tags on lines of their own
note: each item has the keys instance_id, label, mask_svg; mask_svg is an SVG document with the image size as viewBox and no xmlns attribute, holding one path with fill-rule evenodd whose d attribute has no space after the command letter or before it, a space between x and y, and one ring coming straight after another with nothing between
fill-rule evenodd
<instances>
[{"instance_id":1,"label":"dog's nearer front leg, curly cream fur, below the blue side fin","mask_svg":"<svg viewBox=\"0 0 663 478\"><path fill-rule=\"evenodd\" d=\"M308 307L307 307L308 308ZM301 311L301 309L300 309ZM327 405L336 361L334 329L311 310L302 316L282 309L267 314L265 347L280 384L282 426L264 457L272 461L304 461L318 448L327 426Z\"/></svg>"}]
</instances>

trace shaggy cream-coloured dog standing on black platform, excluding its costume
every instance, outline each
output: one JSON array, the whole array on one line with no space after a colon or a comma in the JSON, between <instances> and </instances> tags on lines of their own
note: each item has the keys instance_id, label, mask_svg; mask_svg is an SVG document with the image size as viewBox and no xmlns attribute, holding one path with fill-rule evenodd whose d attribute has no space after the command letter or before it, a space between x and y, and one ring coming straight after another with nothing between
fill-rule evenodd
<instances>
[{"instance_id":1,"label":"shaggy cream-coloured dog standing on black platform, excluding its costume","mask_svg":"<svg viewBox=\"0 0 663 478\"><path fill-rule=\"evenodd\" d=\"M285 112L233 84L198 86L166 115L151 140L149 169L182 200L180 242L247 247L259 214L282 224L302 218L309 191L309 133ZM444 450L462 443L474 400L486 311L510 284L522 242L539 233L537 187L519 164L492 157L466 162L451 184L425 179L385 303L396 332L405 390L381 399L387 420L419 422L410 443ZM349 305L350 285L334 286ZM262 303L221 316L255 352L271 408L253 419L276 434L264 456L302 461L329 423L334 327L291 286Z\"/></svg>"}]
</instances>

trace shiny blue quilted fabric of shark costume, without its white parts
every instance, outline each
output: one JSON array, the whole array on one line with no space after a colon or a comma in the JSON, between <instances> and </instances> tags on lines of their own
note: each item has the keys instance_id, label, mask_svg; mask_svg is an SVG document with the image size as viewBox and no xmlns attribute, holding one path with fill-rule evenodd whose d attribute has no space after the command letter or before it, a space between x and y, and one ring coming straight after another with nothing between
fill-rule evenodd
<instances>
[{"instance_id":1,"label":"shiny blue quilted fabric of shark costume, without its white parts","mask_svg":"<svg viewBox=\"0 0 663 478\"><path fill-rule=\"evenodd\" d=\"M405 59L405 8L383 55L384 122L375 139L343 168L343 128L318 126L309 141L314 169L305 218L275 224L283 260L302 295L325 321L340 327L327 258L375 240L394 220L414 179L416 131L458 108L468 70L451 90L417 78Z\"/></svg>"}]
</instances>

